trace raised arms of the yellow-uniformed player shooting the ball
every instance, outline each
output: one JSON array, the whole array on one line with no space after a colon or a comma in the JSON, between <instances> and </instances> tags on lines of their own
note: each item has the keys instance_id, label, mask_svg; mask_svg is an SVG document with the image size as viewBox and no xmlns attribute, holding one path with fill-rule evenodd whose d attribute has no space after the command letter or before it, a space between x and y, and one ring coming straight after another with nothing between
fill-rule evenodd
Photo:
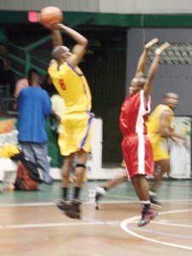
<instances>
[{"instance_id":1,"label":"raised arms of the yellow-uniformed player shooting the ball","mask_svg":"<svg viewBox=\"0 0 192 256\"><path fill-rule=\"evenodd\" d=\"M71 50L72 55L69 55L67 61L71 64L72 67L76 67L80 61L82 61L82 57L86 52L86 48L88 45L88 39L84 38L79 32L76 32L72 28L65 26L63 24L57 24L54 26L56 31L54 31L54 42L57 44L61 42L57 30L61 32L65 32L66 35L71 37L76 41L73 49ZM61 35L60 35L61 36Z\"/></svg>"}]
</instances>

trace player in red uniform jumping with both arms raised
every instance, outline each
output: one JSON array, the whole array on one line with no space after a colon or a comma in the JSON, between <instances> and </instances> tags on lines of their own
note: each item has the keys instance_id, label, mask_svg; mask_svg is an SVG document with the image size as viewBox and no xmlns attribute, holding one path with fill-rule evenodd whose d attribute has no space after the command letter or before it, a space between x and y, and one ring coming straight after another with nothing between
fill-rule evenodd
<instances>
[{"instance_id":1,"label":"player in red uniform jumping with both arms raised","mask_svg":"<svg viewBox=\"0 0 192 256\"><path fill-rule=\"evenodd\" d=\"M150 223L157 212L150 208L150 186L146 175L153 175L154 160L150 140L147 137L145 121L150 113L150 92L152 81L159 67L159 60L168 43L155 49L155 58L152 62L147 77L144 77L147 53L151 46L158 42L152 39L144 45L144 51L139 58L135 77L129 87L129 96L122 104L120 116L120 128L123 135L121 143L123 157L127 166L128 177L132 180L138 199L141 201L143 211L138 226Z\"/></svg>"}]
</instances>

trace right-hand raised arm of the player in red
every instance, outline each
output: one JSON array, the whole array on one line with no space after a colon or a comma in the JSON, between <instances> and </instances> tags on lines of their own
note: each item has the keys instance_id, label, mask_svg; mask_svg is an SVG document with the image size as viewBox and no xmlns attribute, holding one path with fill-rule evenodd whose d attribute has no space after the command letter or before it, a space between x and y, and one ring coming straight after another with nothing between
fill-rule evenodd
<instances>
[{"instance_id":1,"label":"right-hand raised arm of the player in red","mask_svg":"<svg viewBox=\"0 0 192 256\"><path fill-rule=\"evenodd\" d=\"M144 103L145 106L149 100L149 96L150 96L150 92L152 90L152 81L155 78L155 74L157 72L157 69L159 67L159 61L160 61L160 57L162 52L167 49L167 47L169 46L169 44L166 42L164 44L161 45L160 48L157 48L155 50L155 58L154 61L152 62L152 64L150 65L150 69L147 75L147 79L146 82L144 84Z\"/></svg>"}]
</instances>

